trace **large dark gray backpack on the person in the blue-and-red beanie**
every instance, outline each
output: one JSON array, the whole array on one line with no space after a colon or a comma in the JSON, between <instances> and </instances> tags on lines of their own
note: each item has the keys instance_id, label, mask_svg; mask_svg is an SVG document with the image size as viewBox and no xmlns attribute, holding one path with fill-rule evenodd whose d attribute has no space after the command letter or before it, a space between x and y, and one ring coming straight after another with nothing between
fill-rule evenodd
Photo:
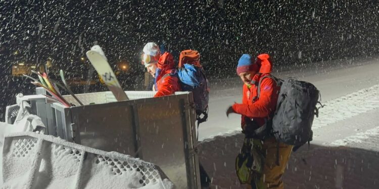
<instances>
[{"instance_id":1,"label":"large dark gray backpack on the person in the blue-and-red beanie","mask_svg":"<svg viewBox=\"0 0 379 189\"><path fill-rule=\"evenodd\" d=\"M264 78L272 78L280 86L280 92L272 120L269 120L268 128L275 136L277 142L294 146L296 151L300 146L312 141L312 122L314 115L318 116L320 95L317 88L308 82L298 81L293 78L286 80L277 79L271 75ZM258 95L260 87L258 87ZM321 105L322 107L322 105Z\"/></svg>"}]
</instances>

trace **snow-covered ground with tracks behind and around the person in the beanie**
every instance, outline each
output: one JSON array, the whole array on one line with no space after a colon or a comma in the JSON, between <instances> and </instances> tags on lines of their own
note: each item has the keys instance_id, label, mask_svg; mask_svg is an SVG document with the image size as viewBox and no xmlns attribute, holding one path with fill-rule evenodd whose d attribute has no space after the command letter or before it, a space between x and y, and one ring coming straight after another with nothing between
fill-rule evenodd
<instances>
[{"instance_id":1,"label":"snow-covered ground with tracks behind and around the person in the beanie","mask_svg":"<svg viewBox=\"0 0 379 189\"><path fill-rule=\"evenodd\" d=\"M379 60L355 59L316 63L275 74L313 83L324 108L313 122L311 146L291 156L286 188L379 188ZM241 188L234 160L243 135L240 116L226 108L241 102L239 78L213 81L209 119L199 129L200 161L214 188ZM342 147L341 147L342 146Z\"/></svg>"}]
</instances>

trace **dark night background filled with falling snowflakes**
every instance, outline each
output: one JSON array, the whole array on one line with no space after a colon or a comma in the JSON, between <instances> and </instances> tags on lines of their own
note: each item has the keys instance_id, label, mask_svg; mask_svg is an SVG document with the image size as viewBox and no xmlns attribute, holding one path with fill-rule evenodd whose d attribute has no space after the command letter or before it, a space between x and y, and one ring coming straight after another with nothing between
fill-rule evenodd
<instances>
[{"instance_id":1,"label":"dark night background filled with falling snowflakes","mask_svg":"<svg viewBox=\"0 0 379 189\"><path fill-rule=\"evenodd\" d=\"M99 44L109 62L130 65L119 75L125 90L143 78L145 43L202 55L209 78L235 76L242 53L267 52L291 66L378 54L377 1L3 1L0 0L0 119L14 95L34 86L12 76L18 61L43 65L49 57L67 78L96 78L85 52ZM18 51L18 54L14 52ZM89 74L88 74L89 73ZM138 79L139 78L139 79ZM138 81L138 82L136 82ZM101 91L101 84L89 91ZM75 92L87 91L85 86Z\"/></svg>"}]
</instances>

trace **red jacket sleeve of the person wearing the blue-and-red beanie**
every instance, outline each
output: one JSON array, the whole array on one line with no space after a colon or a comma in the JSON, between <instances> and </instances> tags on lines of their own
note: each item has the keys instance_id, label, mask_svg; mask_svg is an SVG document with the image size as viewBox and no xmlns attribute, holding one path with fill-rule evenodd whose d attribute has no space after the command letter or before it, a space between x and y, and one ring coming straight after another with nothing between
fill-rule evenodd
<instances>
[{"instance_id":1,"label":"red jacket sleeve of the person wearing the blue-and-red beanie","mask_svg":"<svg viewBox=\"0 0 379 189\"><path fill-rule=\"evenodd\" d=\"M278 87L271 78L265 78L261 83L260 97L253 104L234 104L236 113L248 117L268 117L275 110L278 98Z\"/></svg>"}]
</instances>

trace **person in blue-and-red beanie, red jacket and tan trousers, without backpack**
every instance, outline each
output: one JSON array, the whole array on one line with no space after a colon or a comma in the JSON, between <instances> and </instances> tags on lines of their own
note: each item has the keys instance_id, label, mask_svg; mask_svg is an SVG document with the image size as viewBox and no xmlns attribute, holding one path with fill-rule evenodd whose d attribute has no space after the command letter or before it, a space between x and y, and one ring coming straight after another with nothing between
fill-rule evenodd
<instances>
[{"instance_id":1,"label":"person in blue-and-red beanie, red jacket and tan trousers, without backpack","mask_svg":"<svg viewBox=\"0 0 379 189\"><path fill-rule=\"evenodd\" d=\"M229 113L242 115L243 133L253 138L253 149L258 149L264 156L262 173L249 176L248 188L283 188L281 177L293 148L293 146L278 143L275 137L270 136L269 131L263 128L266 120L272 118L275 112L280 90L275 80L263 78L271 72L272 65L268 54L258 55L255 61L252 61L249 54L243 54L237 67L237 74L244 82L242 103L235 103L226 111L227 116ZM260 88L259 95L258 87Z\"/></svg>"}]
</instances>

